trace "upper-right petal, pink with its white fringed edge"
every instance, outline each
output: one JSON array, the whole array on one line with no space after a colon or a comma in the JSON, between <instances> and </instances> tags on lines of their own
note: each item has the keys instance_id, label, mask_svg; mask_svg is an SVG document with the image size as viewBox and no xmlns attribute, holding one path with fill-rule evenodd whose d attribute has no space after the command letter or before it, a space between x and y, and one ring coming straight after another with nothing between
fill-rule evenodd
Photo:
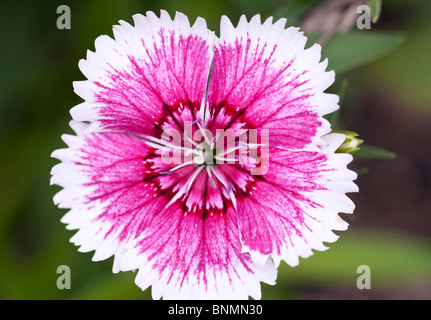
<instances>
[{"instance_id":1,"label":"upper-right petal, pink with its white fringed edge","mask_svg":"<svg viewBox=\"0 0 431 320\"><path fill-rule=\"evenodd\" d=\"M213 113L228 107L237 121L269 129L272 146L313 148L330 131L321 116L338 108L338 97L323 93L334 73L319 62L320 47L304 50L306 37L284 23L242 16L234 28L222 18L208 101Z\"/></svg>"}]
</instances>

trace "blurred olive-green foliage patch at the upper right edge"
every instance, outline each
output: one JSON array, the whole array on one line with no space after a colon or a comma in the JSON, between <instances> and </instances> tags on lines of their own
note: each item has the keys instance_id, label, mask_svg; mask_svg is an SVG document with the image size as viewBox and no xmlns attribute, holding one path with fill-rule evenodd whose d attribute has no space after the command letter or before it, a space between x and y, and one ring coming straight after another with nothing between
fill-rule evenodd
<instances>
[{"instance_id":1,"label":"blurred olive-green foliage patch at the upper right edge","mask_svg":"<svg viewBox=\"0 0 431 320\"><path fill-rule=\"evenodd\" d=\"M387 1L390 2L390 1ZM431 114L431 23L430 1L413 0L404 8L401 1L391 3L391 12L405 10L403 20L389 22L395 28L403 25L405 42L379 63L366 66L357 73L364 85L378 86L382 89L397 92L401 98L411 101L411 106L421 107L420 111ZM383 4L385 12L386 2ZM392 13L393 14L393 13ZM372 68L372 70L371 70ZM373 74L373 81L367 81Z\"/></svg>"}]
</instances>

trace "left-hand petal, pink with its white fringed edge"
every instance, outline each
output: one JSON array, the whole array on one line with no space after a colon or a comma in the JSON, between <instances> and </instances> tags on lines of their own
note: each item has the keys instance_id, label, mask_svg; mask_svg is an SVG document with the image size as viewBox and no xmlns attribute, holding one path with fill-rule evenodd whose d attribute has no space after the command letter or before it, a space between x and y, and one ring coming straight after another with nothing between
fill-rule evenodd
<instances>
[{"instance_id":1,"label":"left-hand petal, pink with its white fringed edge","mask_svg":"<svg viewBox=\"0 0 431 320\"><path fill-rule=\"evenodd\" d=\"M145 230L167 203L152 181L152 150L142 139L120 133L68 140L71 148L56 153L63 162L53 168L51 183L64 189L54 201L72 209L62 220L80 229L71 241L80 251L96 250L95 260L106 259Z\"/></svg>"}]
</instances>

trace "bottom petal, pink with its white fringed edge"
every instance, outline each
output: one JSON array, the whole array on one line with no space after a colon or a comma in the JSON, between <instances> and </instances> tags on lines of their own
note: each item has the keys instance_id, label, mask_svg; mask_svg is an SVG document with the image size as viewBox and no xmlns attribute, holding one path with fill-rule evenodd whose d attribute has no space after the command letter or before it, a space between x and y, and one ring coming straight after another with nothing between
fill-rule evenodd
<instances>
[{"instance_id":1,"label":"bottom petal, pink with its white fringed edge","mask_svg":"<svg viewBox=\"0 0 431 320\"><path fill-rule=\"evenodd\" d=\"M260 297L260 281L273 283L275 268L255 266L241 253L235 214L163 210L122 259L124 271L139 269L136 283L152 285L154 299L246 299Z\"/></svg>"}]
</instances>

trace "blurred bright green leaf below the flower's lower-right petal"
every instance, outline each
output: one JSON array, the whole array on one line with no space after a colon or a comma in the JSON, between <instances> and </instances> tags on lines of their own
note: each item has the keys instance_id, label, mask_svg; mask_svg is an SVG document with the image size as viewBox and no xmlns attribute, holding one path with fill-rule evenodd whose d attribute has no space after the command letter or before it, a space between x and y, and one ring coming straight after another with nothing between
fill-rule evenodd
<instances>
[{"instance_id":1,"label":"blurred bright green leaf below the flower's lower-right petal","mask_svg":"<svg viewBox=\"0 0 431 320\"><path fill-rule=\"evenodd\" d=\"M330 249L301 259L297 267L281 264L277 285L264 285L263 296L278 299L300 286L356 286L357 268L367 265L373 287L429 278L428 240L382 231L346 232ZM361 296L357 291L357 296Z\"/></svg>"}]
</instances>

